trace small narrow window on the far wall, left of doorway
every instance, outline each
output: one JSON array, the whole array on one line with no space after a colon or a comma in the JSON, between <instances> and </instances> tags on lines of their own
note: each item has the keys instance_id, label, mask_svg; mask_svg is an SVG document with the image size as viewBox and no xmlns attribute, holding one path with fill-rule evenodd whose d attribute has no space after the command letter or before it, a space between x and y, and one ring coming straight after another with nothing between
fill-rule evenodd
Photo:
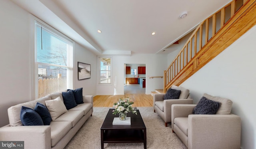
<instances>
[{"instance_id":1,"label":"small narrow window on the far wall, left of doorway","mask_svg":"<svg viewBox=\"0 0 256 149\"><path fill-rule=\"evenodd\" d=\"M99 57L100 84L111 84L111 57Z\"/></svg>"}]
</instances>

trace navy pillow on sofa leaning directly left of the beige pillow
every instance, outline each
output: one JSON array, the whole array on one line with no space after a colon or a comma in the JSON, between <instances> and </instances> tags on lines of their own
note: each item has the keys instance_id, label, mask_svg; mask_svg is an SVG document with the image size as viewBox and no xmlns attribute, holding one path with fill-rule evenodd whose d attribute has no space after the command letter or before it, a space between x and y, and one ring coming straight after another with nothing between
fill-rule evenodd
<instances>
[{"instance_id":1,"label":"navy pillow on sofa leaning directly left of the beige pillow","mask_svg":"<svg viewBox=\"0 0 256 149\"><path fill-rule=\"evenodd\" d=\"M52 117L50 112L48 111L47 107L42 103L36 103L36 107L34 109L42 118L44 125L50 125L52 121Z\"/></svg>"}]
</instances>

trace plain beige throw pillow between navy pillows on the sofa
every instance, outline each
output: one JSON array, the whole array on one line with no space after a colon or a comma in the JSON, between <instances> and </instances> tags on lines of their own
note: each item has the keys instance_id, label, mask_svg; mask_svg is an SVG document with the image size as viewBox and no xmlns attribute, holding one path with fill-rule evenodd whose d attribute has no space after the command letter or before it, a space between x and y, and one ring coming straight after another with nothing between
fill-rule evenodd
<instances>
[{"instance_id":1,"label":"plain beige throw pillow between navy pillows on the sofa","mask_svg":"<svg viewBox=\"0 0 256 149\"><path fill-rule=\"evenodd\" d=\"M52 121L58 118L63 113L68 111L64 105L64 102L60 99L60 97L57 97L56 99L52 99L52 100L46 100L45 104L47 109L50 112Z\"/></svg>"}]
</instances>

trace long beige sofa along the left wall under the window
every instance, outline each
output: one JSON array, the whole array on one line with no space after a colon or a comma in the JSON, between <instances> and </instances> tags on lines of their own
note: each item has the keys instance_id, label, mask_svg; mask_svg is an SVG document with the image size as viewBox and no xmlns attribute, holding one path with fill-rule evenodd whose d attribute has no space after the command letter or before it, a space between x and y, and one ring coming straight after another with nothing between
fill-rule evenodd
<instances>
[{"instance_id":1,"label":"long beige sofa along the left wall under the window","mask_svg":"<svg viewBox=\"0 0 256 149\"><path fill-rule=\"evenodd\" d=\"M63 101L62 93L52 93L40 99L10 107L8 109L10 124L0 128L0 140L24 141L25 149L63 149L84 122L92 116L92 95L82 96L84 103L66 110L65 113L50 121L50 125L24 126L20 119L22 106L34 109L37 102L46 105L45 101L57 97Z\"/></svg>"}]
</instances>

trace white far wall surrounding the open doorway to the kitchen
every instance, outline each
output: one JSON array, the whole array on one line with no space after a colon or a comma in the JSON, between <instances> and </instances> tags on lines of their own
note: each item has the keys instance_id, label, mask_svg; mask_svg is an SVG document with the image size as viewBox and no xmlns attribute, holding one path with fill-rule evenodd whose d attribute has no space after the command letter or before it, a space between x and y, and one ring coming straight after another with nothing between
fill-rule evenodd
<instances>
[{"instance_id":1,"label":"white far wall surrounding the open doorway to the kitchen","mask_svg":"<svg viewBox=\"0 0 256 149\"><path fill-rule=\"evenodd\" d=\"M167 68L167 56L156 54L132 54L132 56L112 57L112 85L97 85L97 95L124 94L124 64L146 64L146 94L155 89L163 88L164 78L149 79L149 77L163 76ZM114 81L116 78L116 87ZM116 90L116 91L115 91Z\"/></svg>"}]
</instances>

